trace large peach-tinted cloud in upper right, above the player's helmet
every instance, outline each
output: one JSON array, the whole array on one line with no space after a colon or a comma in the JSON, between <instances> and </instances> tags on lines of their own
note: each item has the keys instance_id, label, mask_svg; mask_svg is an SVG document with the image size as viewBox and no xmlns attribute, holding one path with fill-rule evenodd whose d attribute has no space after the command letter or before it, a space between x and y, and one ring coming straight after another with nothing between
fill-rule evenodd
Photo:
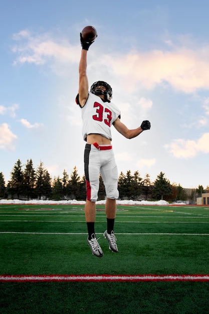
<instances>
[{"instance_id":1,"label":"large peach-tinted cloud in upper right, above the player's helmet","mask_svg":"<svg viewBox=\"0 0 209 314\"><path fill-rule=\"evenodd\" d=\"M209 88L209 46L198 50L178 48L173 51L130 52L106 56L116 75L131 92L140 84L147 89L169 83L174 89L193 93Z\"/></svg>"}]
</instances>

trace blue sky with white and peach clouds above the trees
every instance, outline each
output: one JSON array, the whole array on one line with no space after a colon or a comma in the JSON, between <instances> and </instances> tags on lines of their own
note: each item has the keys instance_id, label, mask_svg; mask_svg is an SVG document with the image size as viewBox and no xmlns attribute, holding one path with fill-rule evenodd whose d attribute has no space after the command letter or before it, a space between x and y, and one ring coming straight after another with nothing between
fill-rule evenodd
<instances>
[{"instance_id":1,"label":"blue sky with white and peach clouds above the trees","mask_svg":"<svg viewBox=\"0 0 209 314\"><path fill-rule=\"evenodd\" d=\"M44 164L52 180L76 166L84 175L78 93L80 32L98 37L88 51L89 86L113 89L130 129L112 126L119 174L160 172L183 188L209 186L209 33L207 0L0 0L0 172L20 159Z\"/></svg>"}]
</instances>

